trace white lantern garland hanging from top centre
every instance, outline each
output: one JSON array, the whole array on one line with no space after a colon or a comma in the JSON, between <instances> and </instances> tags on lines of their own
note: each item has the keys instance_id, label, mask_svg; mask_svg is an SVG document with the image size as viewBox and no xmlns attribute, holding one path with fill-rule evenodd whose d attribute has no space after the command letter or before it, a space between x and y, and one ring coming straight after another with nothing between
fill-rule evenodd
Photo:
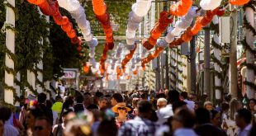
<instances>
[{"instance_id":1,"label":"white lantern garland hanging from top centre","mask_svg":"<svg viewBox=\"0 0 256 136\"><path fill-rule=\"evenodd\" d=\"M152 1L153 0L136 0L131 7L132 11L129 13L129 20L126 29L126 43L127 49L129 50L134 49L136 30L138 29L140 22L143 20L143 17L149 12Z\"/></svg>"}]
</instances>

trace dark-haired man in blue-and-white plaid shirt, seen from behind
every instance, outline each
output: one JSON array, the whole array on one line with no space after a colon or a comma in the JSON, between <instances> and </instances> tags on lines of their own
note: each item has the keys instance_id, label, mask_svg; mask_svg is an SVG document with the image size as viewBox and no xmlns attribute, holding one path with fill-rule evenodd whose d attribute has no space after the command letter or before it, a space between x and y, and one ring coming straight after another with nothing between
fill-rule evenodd
<instances>
[{"instance_id":1,"label":"dark-haired man in blue-and-white plaid shirt, seen from behind","mask_svg":"<svg viewBox=\"0 0 256 136\"><path fill-rule=\"evenodd\" d=\"M152 105L149 101L138 103L138 116L134 120L128 120L118 130L118 136L147 135L154 136L157 125L150 121Z\"/></svg>"}]
</instances>

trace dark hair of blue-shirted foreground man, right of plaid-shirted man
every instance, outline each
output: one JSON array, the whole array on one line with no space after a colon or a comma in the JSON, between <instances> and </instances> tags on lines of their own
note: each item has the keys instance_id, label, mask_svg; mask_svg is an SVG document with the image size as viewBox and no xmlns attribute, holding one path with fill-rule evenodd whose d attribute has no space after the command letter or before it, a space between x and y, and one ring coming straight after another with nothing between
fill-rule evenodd
<instances>
[{"instance_id":1,"label":"dark hair of blue-shirted foreground man, right of plaid-shirted man","mask_svg":"<svg viewBox=\"0 0 256 136\"><path fill-rule=\"evenodd\" d=\"M183 124L184 128L192 128L195 124L195 116L189 110L182 109L179 110L176 115L174 115L174 120L178 120Z\"/></svg>"}]
</instances>

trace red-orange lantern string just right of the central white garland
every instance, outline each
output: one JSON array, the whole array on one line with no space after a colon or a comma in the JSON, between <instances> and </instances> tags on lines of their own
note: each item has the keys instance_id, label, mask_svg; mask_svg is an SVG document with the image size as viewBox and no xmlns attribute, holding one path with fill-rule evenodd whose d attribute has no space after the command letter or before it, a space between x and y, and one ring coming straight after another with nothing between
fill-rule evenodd
<instances>
[{"instance_id":1,"label":"red-orange lantern string just right of the central white garland","mask_svg":"<svg viewBox=\"0 0 256 136\"><path fill-rule=\"evenodd\" d=\"M172 22L173 16L170 16L169 13L166 11L161 12L159 21L156 23L153 30L151 30L150 32L149 40L142 41L142 45L145 47L145 49L150 50L154 48L154 45L156 44L161 34L164 32L166 27Z\"/></svg>"}]
</instances>

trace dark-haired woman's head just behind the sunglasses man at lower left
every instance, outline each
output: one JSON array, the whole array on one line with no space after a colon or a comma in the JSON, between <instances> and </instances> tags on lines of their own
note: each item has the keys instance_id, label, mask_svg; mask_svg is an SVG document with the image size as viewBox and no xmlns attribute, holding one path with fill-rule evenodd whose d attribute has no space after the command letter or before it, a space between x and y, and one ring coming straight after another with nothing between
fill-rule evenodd
<instances>
[{"instance_id":1,"label":"dark-haired woman's head just behind the sunglasses man at lower left","mask_svg":"<svg viewBox=\"0 0 256 136\"><path fill-rule=\"evenodd\" d=\"M40 108L31 108L26 111L26 127L27 129L33 128L36 118L43 116L43 111Z\"/></svg>"}]
</instances>

